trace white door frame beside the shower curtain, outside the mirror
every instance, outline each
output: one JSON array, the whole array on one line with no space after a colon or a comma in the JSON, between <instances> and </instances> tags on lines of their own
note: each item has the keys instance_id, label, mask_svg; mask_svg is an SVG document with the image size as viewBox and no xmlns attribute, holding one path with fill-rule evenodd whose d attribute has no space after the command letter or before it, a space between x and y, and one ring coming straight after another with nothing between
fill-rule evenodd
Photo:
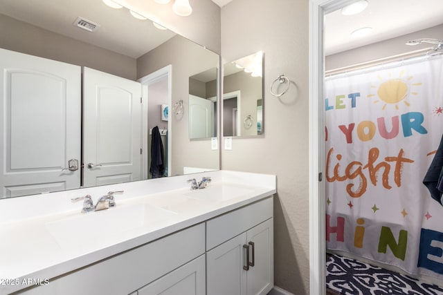
<instances>
[{"instance_id":1,"label":"white door frame beside the shower curtain, outside the mirror","mask_svg":"<svg viewBox=\"0 0 443 295\"><path fill-rule=\"evenodd\" d=\"M309 294L326 292L324 17L356 1L309 1Z\"/></svg>"}]
</instances>

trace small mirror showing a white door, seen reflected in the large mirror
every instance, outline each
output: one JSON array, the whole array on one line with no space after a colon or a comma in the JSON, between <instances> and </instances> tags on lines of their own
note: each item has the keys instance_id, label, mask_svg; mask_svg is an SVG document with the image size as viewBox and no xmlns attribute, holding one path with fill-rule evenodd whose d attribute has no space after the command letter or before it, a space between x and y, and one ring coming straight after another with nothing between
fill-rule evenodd
<instances>
[{"instance_id":1,"label":"small mirror showing a white door, seen reflected in the large mirror","mask_svg":"<svg viewBox=\"0 0 443 295\"><path fill-rule=\"evenodd\" d=\"M217 68L189 77L189 138L217 136Z\"/></svg>"}]
</instances>

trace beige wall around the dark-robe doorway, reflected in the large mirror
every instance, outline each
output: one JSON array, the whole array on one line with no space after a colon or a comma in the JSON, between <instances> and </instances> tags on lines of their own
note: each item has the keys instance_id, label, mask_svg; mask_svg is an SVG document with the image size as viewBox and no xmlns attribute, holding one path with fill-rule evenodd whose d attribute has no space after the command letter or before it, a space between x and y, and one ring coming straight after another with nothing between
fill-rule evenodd
<instances>
[{"instance_id":1,"label":"beige wall around the dark-robe doorway, reflected in the large mirror","mask_svg":"<svg viewBox=\"0 0 443 295\"><path fill-rule=\"evenodd\" d=\"M183 115L172 113L171 175L183 174L183 166L219 169L219 151L210 140L190 140L188 133L189 77L219 65L219 56L180 36L137 59L137 76L144 77L172 64L172 105L183 99Z\"/></svg>"}]
</instances>

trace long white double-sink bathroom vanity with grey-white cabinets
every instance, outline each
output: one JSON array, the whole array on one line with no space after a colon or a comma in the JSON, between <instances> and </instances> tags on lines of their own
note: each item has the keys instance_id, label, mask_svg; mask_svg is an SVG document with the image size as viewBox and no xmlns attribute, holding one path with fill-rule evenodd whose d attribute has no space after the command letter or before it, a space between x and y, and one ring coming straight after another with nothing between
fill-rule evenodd
<instances>
[{"instance_id":1,"label":"long white double-sink bathroom vanity with grey-white cabinets","mask_svg":"<svg viewBox=\"0 0 443 295\"><path fill-rule=\"evenodd\" d=\"M113 190L115 208L71 203ZM267 294L275 192L273 175L212 171L3 200L0 294Z\"/></svg>"}]
</instances>

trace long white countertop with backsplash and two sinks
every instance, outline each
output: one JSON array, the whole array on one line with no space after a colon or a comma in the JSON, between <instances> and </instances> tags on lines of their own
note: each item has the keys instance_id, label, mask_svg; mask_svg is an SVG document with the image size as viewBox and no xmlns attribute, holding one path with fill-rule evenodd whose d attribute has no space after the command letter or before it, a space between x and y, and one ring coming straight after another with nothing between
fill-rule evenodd
<instances>
[{"instance_id":1,"label":"long white countertop with backsplash and two sinks","mask_svg":"<svg viewBox=\"0 0 443 295\"><path fill-rule=\"evenodd\" d=\"M189 178L210 176L206 189L191 190ZM250 204L276 192L274 175L213 171L0 200L0 294L51 279ZM109 190L116 208L80 213Z\"/></svg>"}]
</instances>

